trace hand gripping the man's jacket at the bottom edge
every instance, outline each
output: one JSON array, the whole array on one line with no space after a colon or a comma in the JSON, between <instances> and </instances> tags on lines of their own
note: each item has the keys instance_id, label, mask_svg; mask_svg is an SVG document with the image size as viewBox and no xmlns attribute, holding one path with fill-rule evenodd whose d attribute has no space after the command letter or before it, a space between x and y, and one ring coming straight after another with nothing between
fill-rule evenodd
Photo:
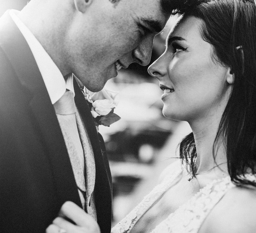
<instances>
[{"instance_id":1,"label":"hand gripping the man's jacket at the bottom edge","mask_svg":"<svg viewBox=\"0 0 256 233\"><path fill-rule=\"evenodd\" d=\"M71 223L67 219L73 221ZM83 209L71 201L65 202L46 233L100 233L97 222Z\"/></svg>"}]
</instances>

